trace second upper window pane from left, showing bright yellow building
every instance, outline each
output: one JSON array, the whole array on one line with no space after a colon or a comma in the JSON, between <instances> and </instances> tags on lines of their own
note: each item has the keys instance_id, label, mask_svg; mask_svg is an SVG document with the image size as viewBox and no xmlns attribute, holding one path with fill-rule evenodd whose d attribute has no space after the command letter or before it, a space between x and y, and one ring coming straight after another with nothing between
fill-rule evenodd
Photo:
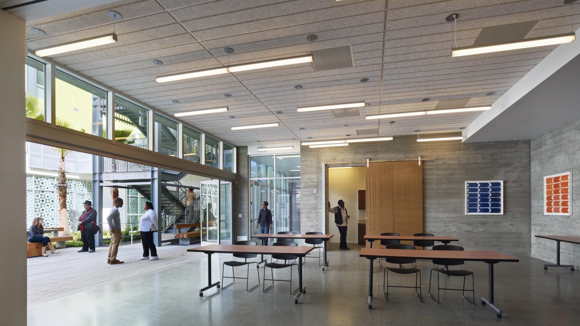
<instances>
[{"instance_id":1,"label":"second upper window pane from left, showing bright yellow building","mask_svg":"<svg viewBox=\"0 0 580 326\"><path fill-rule=\"evenodd\" d=\"M57 70L55 92L57 125L106 136L106 91Z\"/></svg>"}]
</instances>

